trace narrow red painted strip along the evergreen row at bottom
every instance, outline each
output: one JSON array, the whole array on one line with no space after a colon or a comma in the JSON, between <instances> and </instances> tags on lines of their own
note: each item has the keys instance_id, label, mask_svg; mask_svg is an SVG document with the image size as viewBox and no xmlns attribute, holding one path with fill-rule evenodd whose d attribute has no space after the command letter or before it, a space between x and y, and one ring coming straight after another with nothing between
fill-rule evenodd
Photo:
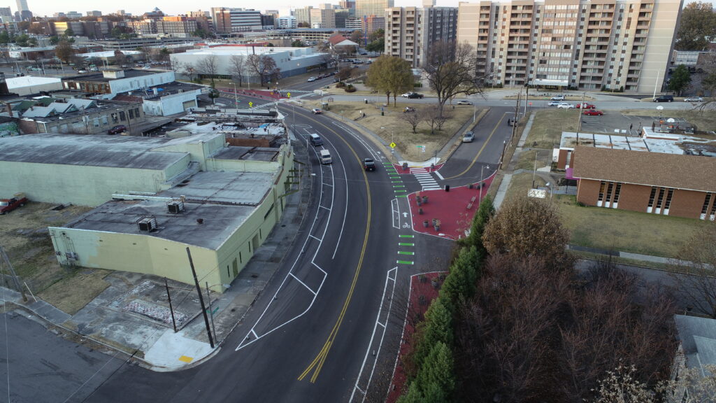
<instances>
[{"instance_id":1,"label":"narrow red painted strip along the evergreen row at bottom","mask_svg":"<svg viewBox=\"0 0 716 403\"><path fill-rule=\"evenodd\" d=\"M437 278L440 272L425 273L425 282L420 282L420 276L414 275L410 278L410 303L408 305L408 317L416 318L417 314L420 314L420 318L425 315L427 307L430 306L432 300L437 298L437 290L439 288L433 288L431 280ZM420 295L425 297L425 303L420 303ZM405 391L405 357L412 351L412 335L415 333L414 323L411 321L405 321L405 327L403 328L403 335L400 343L400 354L398 355L398 361L395 365L395 371L393 371L393 379L391 382L390 390L388 391L388 397L385 399L386 403L395 403L400 397L400 394ZM395 388L395 389L393 389Z\"/></svg>"}]
</instances>

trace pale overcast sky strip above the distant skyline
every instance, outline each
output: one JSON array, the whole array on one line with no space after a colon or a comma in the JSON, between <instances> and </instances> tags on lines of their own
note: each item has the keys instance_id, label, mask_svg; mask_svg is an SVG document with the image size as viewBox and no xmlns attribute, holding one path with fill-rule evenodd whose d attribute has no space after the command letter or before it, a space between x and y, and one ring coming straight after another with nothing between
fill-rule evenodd
<instances>
[{"instance_id":1,"label":"pale overcast sky strip above the distant skyline","mask_svg":"<svg viewBox=\"0 0 716 403\"><path fill-rule=\"evenodd\" d=\"M216 1L216 3L214 2ZM458 6L460 0L437 0L438 6ZM463 0L465 1L465 0ZM470 2L477 2L478 0L470 0ZM691 0L685 0L684 4L689 3ZM710 0L711 4L714 4L715 0ZM261 1L261 8L255 6L256 2L241 0L241 1L226 1L221 3L221 0L211 0L208 3L202 3L198 5L197 1L189 0L154 0L153 2L145 0L124 0L124 1L107 1L101 2L97 0L62 0L62 1L50 1L50 0L27 0L27 5L34 14L39 16L52 16L56 12L67 12L77 11L82 15L87 15L87 11L99 10L105 14L110 14L117 9L124 9L125 12L131 13L132 15L144 14L147 11L151 11L154 7L159 7L160 10L164 11L165 14L176 15L186 14L188 11L196 11L202 9L208 11L212 6L228 6L228 7L243 7L248 9L258 9L260 11L266 9L279 9L282 15L285 15L289 11L291 6L318 6L319 3L333 3L337 4L338 1L296 1L296 0L263 0ZM107 8L111 4L112 7ZM251 4L251 6L249 6ZM421 0L395 0L396 6L420 6ZM121 5L121 6L120 6ZM17 3L12 0L0 0L0 6L10 6L12 11L17 11Z\"/></svg>"}]
</instances>

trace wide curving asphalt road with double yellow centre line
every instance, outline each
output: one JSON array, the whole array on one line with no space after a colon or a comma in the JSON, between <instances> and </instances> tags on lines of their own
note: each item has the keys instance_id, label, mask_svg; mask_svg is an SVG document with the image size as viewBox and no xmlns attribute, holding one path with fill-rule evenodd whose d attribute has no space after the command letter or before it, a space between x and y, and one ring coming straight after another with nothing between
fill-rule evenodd
<instances>
[{"instance_id":1,"label":"wide curving asphalt road with double yellow centre line","mask_svg":"<svg viewBox=\"0 0 716 403\"><path fill-rule=\"evenodd\" d=\"M380 346L397 340L402 329L389 326L378 338L379 310L394 289L407 298L407 278L415 270L444 267L435 256L447 259L451 243L415 240L420 252L410 256L414 264L399 265L399 235L413 232L407 220L395 220L393 200L407 209L407 199L395 197L382 165L364 173L359 163L364 156L381 162L382 156L324 115L296 110L295 125L302 141L320 133L334 161L320 166L318 150L309 146L315 196L286 267L216 357L170 374L123 366L87 402L361 402L374 368L392 371L397 349ZM374 389L368 392L384 394L387 384Z\"/></svg>"}]
</instances>

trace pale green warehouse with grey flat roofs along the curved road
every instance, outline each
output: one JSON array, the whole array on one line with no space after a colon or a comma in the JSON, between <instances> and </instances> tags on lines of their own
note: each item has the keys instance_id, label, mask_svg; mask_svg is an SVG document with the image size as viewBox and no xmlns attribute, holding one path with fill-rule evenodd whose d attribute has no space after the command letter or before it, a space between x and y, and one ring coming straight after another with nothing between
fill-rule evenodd
<instances>
[{"instance_id":1,"label":"pale green warehouse with grey flat roofs along the curved road","mask_svg":"<svg viewBox=\"0 0 716 403\"><path fill-rule=\"evenodd\" d=\"M223 291L284 212L293 153L279 133L269 147L227 146L218 131L0 138L0 194L97 206L49 227L62 265L193 283L189 247L199 277Z\"/></svg>"}]
</instances>

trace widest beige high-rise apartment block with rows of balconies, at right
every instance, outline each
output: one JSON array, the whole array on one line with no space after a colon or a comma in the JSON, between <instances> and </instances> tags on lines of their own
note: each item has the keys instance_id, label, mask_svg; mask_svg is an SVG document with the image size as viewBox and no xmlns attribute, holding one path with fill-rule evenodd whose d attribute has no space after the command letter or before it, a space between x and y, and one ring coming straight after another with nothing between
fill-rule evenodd
<instances>
[{"instance_id":1,"label":"widest beige high-rise apartment block with rows of balconies, at right","mask_svg":"<svg viewBox=\"0 0 716 403\"><path fill-rule=\"evenodd\" d=\"M458 42L487 83L661 90L682 0L460 3Z\"/></svg>"}]
</instances>

